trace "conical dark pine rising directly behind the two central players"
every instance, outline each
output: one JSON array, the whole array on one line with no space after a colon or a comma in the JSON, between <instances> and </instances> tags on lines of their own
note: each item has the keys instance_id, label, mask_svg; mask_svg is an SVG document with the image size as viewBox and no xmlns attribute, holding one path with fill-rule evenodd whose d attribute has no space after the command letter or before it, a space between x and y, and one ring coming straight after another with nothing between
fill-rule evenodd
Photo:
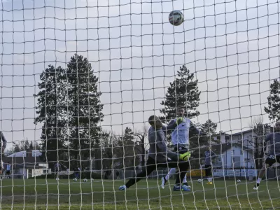
<instances>
[{"instance_id":1,"label":"conical dark pine rising directly behind the two central players","mask_svg":"<svg viewBox=\"0 0 280 210\"><path fill-rule=\"evenodd\" d=\"M181 66L177 73L177 78L170 83L170 87L167 89L165 101L160 103L164 106L163 109L160 109L160 113L164 114L164 117L161 118L163 123L176 118L176 107L184 107L188 118L200 115L200 112L197 111L200 105L200 91L197 80L194 79L194 73L190 73L185 65Z\"/></svg>"}]
</instances>

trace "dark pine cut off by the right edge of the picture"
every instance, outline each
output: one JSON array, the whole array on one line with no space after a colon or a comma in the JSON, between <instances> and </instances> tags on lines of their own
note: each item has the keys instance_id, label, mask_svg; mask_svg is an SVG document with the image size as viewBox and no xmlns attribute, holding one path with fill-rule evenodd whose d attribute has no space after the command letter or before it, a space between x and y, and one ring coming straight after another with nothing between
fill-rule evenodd
<instances>
[{"instance_id":1,"label":"dark pine cut off by the right edge of the picture","mask_svg":"<svg viewBox=\"0 0 280 210\"><path fill-rule=\"evenodd\" d=\"M270 85L270 94L267 97L268 106L265 106L265 112L268 114L269 120L274 123L280 120L280 82L274 80Z\"/></svg>"}]
</instances>

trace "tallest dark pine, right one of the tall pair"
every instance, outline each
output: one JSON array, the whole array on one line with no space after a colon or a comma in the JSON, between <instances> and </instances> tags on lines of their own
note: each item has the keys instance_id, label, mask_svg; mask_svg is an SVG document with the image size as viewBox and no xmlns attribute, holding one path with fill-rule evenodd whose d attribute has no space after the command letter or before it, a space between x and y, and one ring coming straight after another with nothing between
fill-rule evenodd
<instances>
[{"instance_id":1,"label":"tallest dark pine, right one of the tall pair","mask_svg":"<svg viewBox=\"0 0 280 210\"><path fill-rule=\"evenodd\" d=\"M103 120L101 92L97 90L98 78L94 76L87 58L75 54L66 69L68 90L68 116L70 136L70 155L76 160L90 157L90 148L97 144ZM91 139L91 141L90 141ZM80 153L81 151L81 153Z\"/></svg>"}]
</instances>

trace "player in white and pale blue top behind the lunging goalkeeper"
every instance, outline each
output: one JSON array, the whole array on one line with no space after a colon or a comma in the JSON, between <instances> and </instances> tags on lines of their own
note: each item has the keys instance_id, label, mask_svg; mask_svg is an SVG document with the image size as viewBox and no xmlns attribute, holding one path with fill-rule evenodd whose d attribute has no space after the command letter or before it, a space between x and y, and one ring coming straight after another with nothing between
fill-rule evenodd
<instances>
[{"instance_id":1,"label":"player in white and pale blue top behind the lunging goalkeeper","mask_svg":"<svg viewBox=\"0 0 280 210\"><path fill-rule=\"evenodd\" d=\"M200 131L197 130L197 128L195 126L193 126L193 123L190 121L190 119L184 117L185 109L183 107L180 107L177 109L177 116L179 118L183 118L183 122L180 123L178 126L176 126L175 130L172 132L171 140L172 140L172 144L174 146L174 151L179 154L183 154L183 153L188 152L188 147L190 144L190 142L189 142L190 129L193 129L196 133L199 133ZM176 122L175 119L171 120L169 125L172 125L174 122ZM162 189L165 188L165 184L167 183L169 178L176 172L177 172L177 169L172 168L172 169L170 169L167 176L162 177L162 184L161 184ZM183 185L186 188L190 188L190 186L188 185L186 176L183 179Z\"/></svg>"}]
</instances>

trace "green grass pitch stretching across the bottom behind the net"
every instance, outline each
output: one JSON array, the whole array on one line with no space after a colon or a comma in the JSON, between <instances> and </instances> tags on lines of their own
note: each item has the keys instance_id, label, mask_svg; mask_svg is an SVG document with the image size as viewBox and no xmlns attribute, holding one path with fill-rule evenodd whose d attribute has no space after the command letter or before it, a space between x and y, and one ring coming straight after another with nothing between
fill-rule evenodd
<instances>
[{"instance_id":1,"label":"green grass pitch stretching across the bottom behind the net","mask_svg":"<svg viewBox=\"0 0 280 210\"><path fill-rule=\"evenodd\" d=\"M35 184L36 183L36 184ZM277 181L262 181L258 192L255 182L193 181L192 191L172 191L174 181L165 190L158 181L142 180L126 192L118 191L124 181L94 180L87 183L53 179L2 181L1 209L279 209ZM160 181L159 181L160 183ZM191 183L190 183L191 184ZM267 190L267 188L269 190Z\"/></svg>"}]
</instances>

